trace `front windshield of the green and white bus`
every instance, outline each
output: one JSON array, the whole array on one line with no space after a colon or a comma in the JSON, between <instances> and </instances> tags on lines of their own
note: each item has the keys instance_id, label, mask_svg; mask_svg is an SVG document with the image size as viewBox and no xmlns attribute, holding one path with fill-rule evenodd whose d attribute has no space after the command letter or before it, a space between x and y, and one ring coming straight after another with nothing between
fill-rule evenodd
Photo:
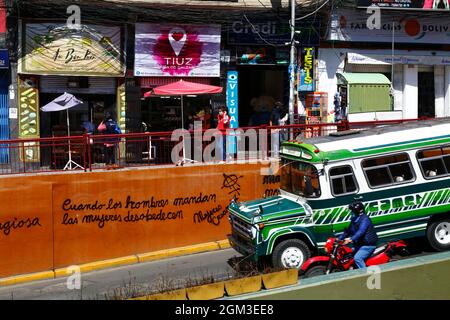
<instances>
[{"instance_id":1,"label":"front windshield of the green and white bus","mask_svg":"<svg viewBox=\"0 0 450 320\"><path fill-rule=\"evenodd\" d=\"M281 189L305 198L320 197L316 167L306 162L282 159Z\"/></svg>"}]
</instances>

